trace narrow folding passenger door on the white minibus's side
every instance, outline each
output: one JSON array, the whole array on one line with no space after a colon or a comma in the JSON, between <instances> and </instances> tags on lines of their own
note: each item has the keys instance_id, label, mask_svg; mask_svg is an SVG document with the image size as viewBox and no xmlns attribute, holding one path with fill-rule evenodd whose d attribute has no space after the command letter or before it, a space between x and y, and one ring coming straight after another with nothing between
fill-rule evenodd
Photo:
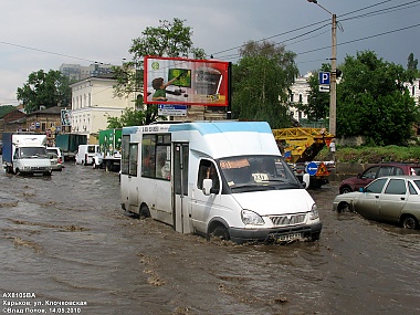
<instances>
[{"instance_id":1,"label":"narrow folding passenger door on the white minibus's side","mask_svg":"<svg viewBox=\"0 0 420 315\"><path fill-rule=\"evenodd\" d=\"M174 229L191 233L188 211L188 155L189 144L174 143Z\"/></svg>"}]
</instances>

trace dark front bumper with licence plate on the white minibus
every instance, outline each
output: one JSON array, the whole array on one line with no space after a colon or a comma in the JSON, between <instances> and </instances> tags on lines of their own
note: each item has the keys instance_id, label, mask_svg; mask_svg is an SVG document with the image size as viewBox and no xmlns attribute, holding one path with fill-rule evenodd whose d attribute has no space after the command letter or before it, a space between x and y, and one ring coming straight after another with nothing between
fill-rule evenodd
<instances>
[{"instance_id":1,"label":"dark front bumper with licence plate on the white minibus","mask_svg":"<svg viewBox=\"0 0 420 315\"><path fill-rule=\"evenodd\" d=\"M230 228L229 234L232 242L241 244L245 242L288 243L293 241L316 241L319 239L323 223L305 224L297 227L273 229L238 229Z\"/></svg>"}]
</instances>

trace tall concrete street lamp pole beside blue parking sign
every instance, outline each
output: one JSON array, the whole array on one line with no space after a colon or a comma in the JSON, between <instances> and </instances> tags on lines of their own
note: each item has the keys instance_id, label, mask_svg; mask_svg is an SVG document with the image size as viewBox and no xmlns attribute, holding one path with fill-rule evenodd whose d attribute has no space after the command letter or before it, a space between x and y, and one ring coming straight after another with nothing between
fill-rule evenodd
<instances>
[{"instance_id":1,"label":"tall concrete street lamp pole beside blue parking sign","mask_svg":"<svg viewBox=\"0 0 420 315\"><path fill-rule=\"evenodd\" d=\"M329 83L329 134L336 135L337 119L337 15L325 9L317 0L307 0L315 3L333 17L332 25L332 74Z\"/></svg>"}]
</instances>

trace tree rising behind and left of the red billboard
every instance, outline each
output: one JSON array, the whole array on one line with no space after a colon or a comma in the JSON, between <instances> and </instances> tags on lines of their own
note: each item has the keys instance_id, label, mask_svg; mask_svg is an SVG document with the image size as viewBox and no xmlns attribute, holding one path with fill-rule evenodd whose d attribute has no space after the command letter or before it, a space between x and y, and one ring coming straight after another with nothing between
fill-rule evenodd
<instances>
[{"instance_id":1,"label":"tree rising behind and left of the red billboard","mask_svg":"<svg viewBox=\"0 0 420 315\"><path fill-rule=\"evenodd\" d=\"M141 36L134 39L128 52L133 55L132 61L125 62L122 67L114 69L117 84L115 94L117 96L129 95L130 93L143 92L144 80L144 56L188 56L193 59L204 59L202 49L192 45L192 29L185 25L185 20L175 18L171 22L159 20L160 27L147 27ZM148 105L144 109L143 98L137 101L136 106L144 111L144 124L150 124L158 117L157 106Z\"/></svg>"}]
</instances>

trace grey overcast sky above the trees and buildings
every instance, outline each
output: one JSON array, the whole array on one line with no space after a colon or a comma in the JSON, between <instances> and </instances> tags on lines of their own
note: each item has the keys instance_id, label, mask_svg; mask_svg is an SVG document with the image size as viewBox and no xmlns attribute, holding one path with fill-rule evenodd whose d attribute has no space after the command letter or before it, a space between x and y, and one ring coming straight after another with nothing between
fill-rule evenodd
<instances>
[{"instance_id":1,"label":"grey overcast sky above the trees and buildings","mask_svg":"<svg viewBox=\"0 0 420 315\"><path fill-rule=\"evenodd\" d=\"M0 0L0 105L17 105L15 93L31 72L63 63L130 60L133 39L159 20L186 20L195 46L214 59L237 62L250 40L284 43L297 54L301 74L332 55L330 13L337 15L337 63L371 50L407 67L420 59L420 0ZM329 12L328 12L329 11Z\"/></svg>"}]
</instances>

